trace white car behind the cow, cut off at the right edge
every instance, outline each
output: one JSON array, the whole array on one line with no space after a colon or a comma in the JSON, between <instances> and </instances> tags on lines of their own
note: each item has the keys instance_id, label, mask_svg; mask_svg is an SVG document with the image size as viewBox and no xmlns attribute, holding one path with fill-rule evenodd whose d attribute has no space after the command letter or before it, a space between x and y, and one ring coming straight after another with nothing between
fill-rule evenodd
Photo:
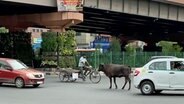
<instances>
[{"instance_id":1,"label":"white car behind the cow, cut off at the right edge","mask_svg":"<svg viewBox=\"0 0 184 104\"><path fill-rule=\"evenodd\" d=\"M155 58L134 70L134 86L144 95L184 90L184 58Z\"/></svg>"}]
</instances>

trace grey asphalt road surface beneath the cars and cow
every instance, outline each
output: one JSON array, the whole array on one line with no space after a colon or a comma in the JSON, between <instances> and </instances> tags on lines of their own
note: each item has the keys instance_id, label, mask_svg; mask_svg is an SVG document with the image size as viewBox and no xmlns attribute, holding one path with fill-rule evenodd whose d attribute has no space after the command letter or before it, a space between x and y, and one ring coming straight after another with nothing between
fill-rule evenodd
<instances>
[{"instance_id":1,"label":"grey asphalt road surface beneath the cars and cow","mask_svg":"<svg viewBox=\"0 0 184 104\"><path fill-rule=\"evenodd\" d=\"M12 85L0 86L0 104L182 104L184 91L166 91L160 95L143 96L134 86L121 90L124 81L117 80L118 89L108 89L109 80L102 77L99 84L89 80L61 83L54 76L46 76L39 88L17 89Z\"/></svg>"}]
</instances>

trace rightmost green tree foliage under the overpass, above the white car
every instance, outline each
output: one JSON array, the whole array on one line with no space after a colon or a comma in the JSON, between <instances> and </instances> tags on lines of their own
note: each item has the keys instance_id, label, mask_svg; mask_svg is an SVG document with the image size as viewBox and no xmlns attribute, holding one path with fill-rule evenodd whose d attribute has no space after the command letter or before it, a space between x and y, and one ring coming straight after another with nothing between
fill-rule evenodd
<instances>
[{"instance_id":1,"label":"rightmost green tree foliage under the overpass, above the white car","mask_svg":"<svg viewBox=\"0 0 184 104\"><path fill-rule=\"evenodd\" d=\"M160 41L159 46L162 47L162 52L168 53L168 52L181 52L183 49L181 46L178 44L175 44L173 42L168 42L168 41Z\"/></svg>"}]
</instances>

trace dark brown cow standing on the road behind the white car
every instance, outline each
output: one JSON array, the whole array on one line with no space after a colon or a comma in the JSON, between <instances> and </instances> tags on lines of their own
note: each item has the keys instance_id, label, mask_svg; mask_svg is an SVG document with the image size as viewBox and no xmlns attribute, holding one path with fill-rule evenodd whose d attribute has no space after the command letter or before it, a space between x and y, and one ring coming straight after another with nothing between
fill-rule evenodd
<instances>
[{"instance_id":1,"label":"dark brown cow standing on the road behind the white car","mask_svg":"<svg viewBox=\"0 0 184 104\"><path fill-rule=\"evenodd\" d=\"M130 74L131 74L131 67L130 66L126 66L126 65L119 65L119 64L100 64L99 65L99 71L102 71L105 73L105 75L107 77L109 77L110 79L110 87L109 89L112 88L112 78L114 78L114 84L115 87L117 89L117 84L116 84L116 77L125 77L125 83L122 87L122 89L124 89L124 87L127 84L127 81L129 82L129 88L128 90L130 90L131 88L131 79L130 79Z\"/></svg>"}]
</instances>

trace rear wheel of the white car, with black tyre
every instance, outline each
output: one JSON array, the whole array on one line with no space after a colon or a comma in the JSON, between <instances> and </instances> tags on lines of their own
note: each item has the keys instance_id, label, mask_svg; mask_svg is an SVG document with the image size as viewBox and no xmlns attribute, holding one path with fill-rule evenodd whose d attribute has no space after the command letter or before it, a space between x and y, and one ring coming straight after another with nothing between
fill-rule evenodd
<instances>
[{"instance_id":1,"label":"rear wheel of the white car, with black tyre","mask_svg":"<svg viewBox=\"0 0 184 104\"><path fill-rule=\"evenodd\" d=\"M150 81L144 81L141 84L140 90L143 95L150 95L154 91L154 85Z\"/></svg>"}]
</instances>

